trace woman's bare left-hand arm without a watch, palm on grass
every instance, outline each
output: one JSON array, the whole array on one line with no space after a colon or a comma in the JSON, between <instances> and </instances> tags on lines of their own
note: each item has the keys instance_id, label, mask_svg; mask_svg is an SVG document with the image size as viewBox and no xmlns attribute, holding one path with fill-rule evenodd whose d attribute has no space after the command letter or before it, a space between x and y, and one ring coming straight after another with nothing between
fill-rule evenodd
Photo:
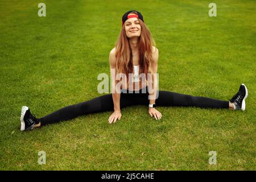
<instances>
[{"instance_id":1,"label":"woman's bare left-hand arm without a watch, palm on grass","mask_svg":"<svg viewBox=\"0 0 256 182\"><path fill-rule=\"evenodd\" d=\"M110 73L111 73L111 69L115 70L115 63L116 63L116 58L115 58L115 48L112 49L112 51L110 51L109 53L109 65L110 65ZM115 90L115 75L111 75L112 76L112 88ZM113 90L112 89L112 90ZM109 123L115 123L118 120L121 119L122 114L121 114L121 109L120 109L120 93L117 93L116 90L114 93L112 93L112 98L113 98L113 103L114 103L114 112L112 115L110 115L109 117Z\"/></svg>"}]
</instances>

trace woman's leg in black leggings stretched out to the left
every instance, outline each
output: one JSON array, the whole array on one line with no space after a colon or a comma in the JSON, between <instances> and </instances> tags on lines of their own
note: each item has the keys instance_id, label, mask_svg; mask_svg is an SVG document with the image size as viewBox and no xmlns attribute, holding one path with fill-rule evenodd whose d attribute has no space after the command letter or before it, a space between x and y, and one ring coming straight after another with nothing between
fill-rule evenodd
<instances>
[{"instance_id":1,"label":"woman's leg in black leggings stretched out to the left","mask_svg":"<svg viewBox=\"0 0 256 182\"><path fill-rule=\"evenodd\" d=\"M134 102L131 98L132 97L127 97L126 94L121 94L120 107L123 108L133 105ZM42 126L49 123L67 121L84 114L99 113L102 111L111 110L114 110L112 94L107 94L93 98L89 101L81 102L79 104L63 107L51 114L46 115L43 118L40 118L39 121L40 125Z\"/></svg>"}]
</instances>

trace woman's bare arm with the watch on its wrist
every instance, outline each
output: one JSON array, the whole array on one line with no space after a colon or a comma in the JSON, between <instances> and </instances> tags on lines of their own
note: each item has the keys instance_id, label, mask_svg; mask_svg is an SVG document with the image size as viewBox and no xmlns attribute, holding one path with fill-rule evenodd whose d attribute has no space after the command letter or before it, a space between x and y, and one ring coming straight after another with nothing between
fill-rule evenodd
<instances>
[{"instance_id":1,"label":"woman's bare arm with the watch on its wrist","mask_svg":"<svg viewBox=\"0 0 256 182\"><path fill-rule=\"evenodd\" d=\"M153 47L153 52L152 52L152 62L151 62L151 66L152 69L154 71L154 73L158 73L158 49L156 47ZM153 77L153 76L152 76ZM156 80L155 80L156 78ZM154 77L154 83L153 83L153 90L154 92L150 94L150 96L156 96L156 92L158 92L158 77ZM154 98L154 97L153 97ZM155 99L150 99L150 103L149 104L155 104ZM156 110L154 107L149 107L148 108L148 113L150 114L151 117L155 117L155 119L161 119L162 118L162 114Z\"/></svg>"}]
</instances>

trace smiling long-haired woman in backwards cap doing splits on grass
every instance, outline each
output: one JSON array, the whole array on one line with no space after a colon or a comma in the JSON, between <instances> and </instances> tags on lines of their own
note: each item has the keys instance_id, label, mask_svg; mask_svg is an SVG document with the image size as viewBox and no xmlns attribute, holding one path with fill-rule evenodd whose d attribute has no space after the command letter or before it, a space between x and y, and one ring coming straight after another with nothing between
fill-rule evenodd
<instances>
[{"instance_id":1,"label":"smiling long-haired woman in backwards cap doing splits on grass","mask_svg":"<svg viewBox=\"0 0 256 182\"><path fill-rule=\"evenodd\" d=\"M109 54L109 64L110 69L115 71L112 75L113 80L116 80L115 77L119 73L123 73L127 76L126 78L129 78L128 81L123 79L114 81L112 88L115 92L63 107L40 119L31 114L27 106L23 106L20 130L32 130L48 123L73 119L79 115L110 110L114 111L108 121L109 123L115 123L122 117L121 109L131 105L148 105L148 113L155 119L162 118L162 114L156 109L156 106L195 106L245 110L245 99L248 96L248 91L244 84L241 84L237 94L230 101L220 101L207 97L158 91L156 89L158 85L157 78L152 76L148 77L146 81L142 79L142 73L146 75L157 73L158 49L155 47L150 31L144 24L142 14L138 11L128 11L122 16L122 30L115 48ZM129 73L134 73L133 77L129 77ZM121 82L122 84L118 90L116 86ZM145 90L146 93L143 92Z\"/></svg>"}]
</instances>

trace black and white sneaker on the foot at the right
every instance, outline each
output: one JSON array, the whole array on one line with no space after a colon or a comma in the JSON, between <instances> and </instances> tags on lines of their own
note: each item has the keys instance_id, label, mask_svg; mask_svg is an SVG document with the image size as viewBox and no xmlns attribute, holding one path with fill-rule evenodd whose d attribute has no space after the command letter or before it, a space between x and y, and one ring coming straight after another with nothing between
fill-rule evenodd
<instances>
[{"instance_id":1,"label":"black and white sneaker on the foot at the right","mask_svg":"<svg viewBox=\"0 0 256 182\"><path fill-rule=\"evenodd\" d=\"M238 92L229 101L233 103L234 109L245 110L245 99L248 96L248 90L245 84L241 84Z\"/></svg>"}]
</instances>

